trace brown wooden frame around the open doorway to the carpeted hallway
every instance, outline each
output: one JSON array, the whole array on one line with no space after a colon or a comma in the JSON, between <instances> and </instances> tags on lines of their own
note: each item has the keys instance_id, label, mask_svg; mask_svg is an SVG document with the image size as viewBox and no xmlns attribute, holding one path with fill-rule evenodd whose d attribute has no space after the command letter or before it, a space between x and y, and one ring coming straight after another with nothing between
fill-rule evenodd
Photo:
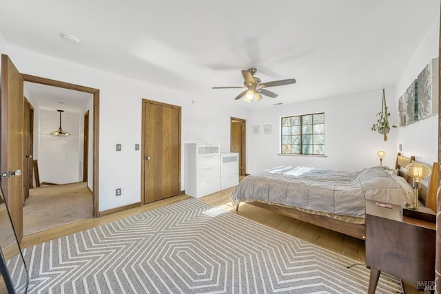
<instances>
[{"instance_id":1,"label":"brown wooden frame around the open doorway to the carpeted hallway","mask_svg":"<svg viewBox=\"0 0 441 294\"><path fill-rule=\"evenodd\" d=\"M42 78L40 76L32 76L30 74L21 74L23 81L30 83L37 83L41 85L48 85L52 87L61 87L63 89L80 91L90 93L93 95L93 183L92 183L92 198L94 218L99 217L99 89L92 87L85 87L71 83L52 80L50 78Z\"/></svg>"}]
</instances>

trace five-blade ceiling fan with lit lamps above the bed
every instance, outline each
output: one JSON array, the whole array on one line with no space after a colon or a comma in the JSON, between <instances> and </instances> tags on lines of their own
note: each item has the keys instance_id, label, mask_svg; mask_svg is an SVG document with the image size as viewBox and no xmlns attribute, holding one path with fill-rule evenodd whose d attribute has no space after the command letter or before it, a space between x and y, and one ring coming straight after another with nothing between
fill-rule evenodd
<instances>
[{"instance_id":1,"label":"five-blade ceiling fan with lit lamps above the bed","mask_svg":"<svg viewBox=\"0 0 441 294\"><path fill-rule=\"evenodd\" d=\"M262 81L260 81L260 78L254 76L256 72L257 70L254 67L242 71L243 78L245 78L242 87L213 87L213 89L247 89L242 93L238 94L238 96L234 99L238 100L245 96L243 98L244 101L257 102L260 99L262 99L262 95L269 96L271 98L276 98L278 96L276 93L264 89L265 87L275 87L275 86L289 85L296 83L295 78L262 83Z\"/></svg>"}]
</instances>

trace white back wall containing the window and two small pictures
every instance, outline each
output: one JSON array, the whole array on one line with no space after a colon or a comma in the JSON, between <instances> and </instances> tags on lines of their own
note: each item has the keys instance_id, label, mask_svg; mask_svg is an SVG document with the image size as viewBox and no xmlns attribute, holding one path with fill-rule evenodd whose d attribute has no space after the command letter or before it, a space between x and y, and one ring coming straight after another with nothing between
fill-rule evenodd
<instances>
[{"instance_id":1,"label":"white back wall containing the window and two small pictures","mask_svg":"<svg viewBox=\"0 0 441 294\"><path fill-rule=\"evenodd\" d=\"M386 98L391 93L387 87ZM391 99L389 95L389 99ZM396 129L384 141L371 127L376 113L381 111L382 89L354 93L345 96L323 98L316 101L279 105L254 112L247 121L247 173L276 167L278 165L302 165L325 169L356 171L379 165L376 152L386 151L384 165L395 165ZM393 109L393 105L389 106ZM299 114L325 112L325 155L287 156L278 155L280 150L280 118ZM395 112L393 112L395 113ZM396 116L391 114L391 124ZM260 134L253 135L252 127L258 125ZM271 134L263 134L263 125L271 125Z\"/></svg>"}]
</instances>

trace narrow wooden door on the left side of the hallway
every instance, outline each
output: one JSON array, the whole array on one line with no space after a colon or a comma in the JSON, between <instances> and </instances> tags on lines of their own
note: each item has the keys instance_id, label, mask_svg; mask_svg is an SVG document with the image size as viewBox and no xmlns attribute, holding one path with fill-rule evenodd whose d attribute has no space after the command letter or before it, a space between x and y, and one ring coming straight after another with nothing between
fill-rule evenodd
<instances>
[{"instance_id":1,"label":"narrow wooden door on the left side of the hallway","mask_svg":"<svg viewBox=\"0 0 441 294\"><path fill-rule=\"evenodd\" d=\"M29 197L29 189L34 187L32 158L34 157L34 107L24 98L23 105L23 204Z\"/></svg>"}]
</instances>

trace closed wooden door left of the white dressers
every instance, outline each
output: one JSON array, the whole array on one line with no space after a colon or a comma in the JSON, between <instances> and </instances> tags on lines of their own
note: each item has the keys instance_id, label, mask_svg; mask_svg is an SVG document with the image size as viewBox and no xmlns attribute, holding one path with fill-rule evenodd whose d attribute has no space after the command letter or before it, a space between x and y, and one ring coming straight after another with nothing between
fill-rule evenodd
<instances>
[{"instance_id":1,"label":"closed wooden door left of the white dressers","mask_svg":"<svg viewBox=\"0 0 441 294\"><path fill-rule=\"evenodd\" d=\"M143 100L141 203L181 192L181 107Z\"/></svg>"}]
</instances>

